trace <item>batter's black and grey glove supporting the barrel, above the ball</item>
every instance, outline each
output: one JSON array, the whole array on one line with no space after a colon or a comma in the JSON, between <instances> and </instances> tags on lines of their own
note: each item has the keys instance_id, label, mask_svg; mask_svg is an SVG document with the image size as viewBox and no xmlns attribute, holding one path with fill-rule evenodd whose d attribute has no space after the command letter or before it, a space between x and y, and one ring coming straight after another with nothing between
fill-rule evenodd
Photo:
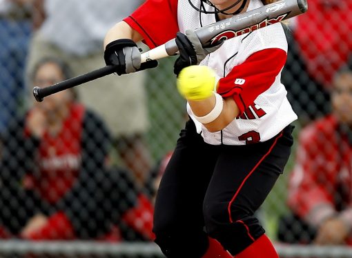
<instances>
[{"instance_id":1,"label":"batter's black and grey glove supporting the barrel, above the ball","mask_svg":"<svg viewBox=\"0 0 352 258\"><path fill-rule=\"evenodd\" d=\"M175 38L176 45L179 48L179 57L175 61L173 72L177 76L183 68L199 64L208 54L217 50L224 43L224 41L219 41L215 46L203 48L193 30L186 30L185 33L177 32Z\"/></svg>"}]
</instances>

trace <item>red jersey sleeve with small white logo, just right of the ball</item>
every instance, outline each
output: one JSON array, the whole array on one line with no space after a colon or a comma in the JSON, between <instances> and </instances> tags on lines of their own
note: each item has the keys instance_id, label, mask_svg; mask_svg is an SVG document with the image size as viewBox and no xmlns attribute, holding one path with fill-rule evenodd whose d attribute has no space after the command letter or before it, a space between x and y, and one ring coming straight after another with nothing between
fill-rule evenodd
<instances>
[{"instance_id":1,"label":"red jersey sleeve with small white logo, just right of the ball","mask_svg":"<svg viewBox=\"0 0 352 258\"><path fill-rule=\"evenodd\" d=\"M284 67L286 57L286 52L280 48L255 52L219 80L217 93L233 97L242 115L258 95L270 88Z\"/></svg>"}]
</instances>

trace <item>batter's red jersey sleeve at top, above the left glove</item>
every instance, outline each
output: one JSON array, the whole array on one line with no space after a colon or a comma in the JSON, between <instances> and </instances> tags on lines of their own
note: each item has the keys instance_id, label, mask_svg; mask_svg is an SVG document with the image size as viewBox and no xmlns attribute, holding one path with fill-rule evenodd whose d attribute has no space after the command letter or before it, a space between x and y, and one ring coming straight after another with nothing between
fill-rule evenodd
<instances>
[{"instance_id":1,"label":"batter's red jersey sleeve at top, above the left glove","mask_svg":"<svg viewBox=\"0 0 352 258\"><path fill-rule=\"evenodd\" d=\"M177 0L147 0L124 21L155 48L176 37Z\"/></svg>"}]
</instances>

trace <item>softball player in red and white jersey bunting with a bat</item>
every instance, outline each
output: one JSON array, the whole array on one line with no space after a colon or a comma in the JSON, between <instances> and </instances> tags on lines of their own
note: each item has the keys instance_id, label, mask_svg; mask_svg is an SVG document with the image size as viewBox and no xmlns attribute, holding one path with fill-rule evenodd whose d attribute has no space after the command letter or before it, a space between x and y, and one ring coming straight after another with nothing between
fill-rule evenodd
<instances>
[{"instance_id":1,"label":"softball player in red and white jersey bunting with a bat","mask_svg":"<svg viewBox=\"0 0 352 258\"><path fill-rule=\"evenodd\" d=\"M104 58L119 74L141 69L135 41L155 48L175 37L176 75L191 65L216 74L217 90L206 97L197 96L203 85L182 90L190 119L155 204L155 242L166 257L278 257L254 213L284 170L293 143L290 124L297 119L280 83L284 30L276 23L212 48L203 48L193 32L263 4L147 0L106 34Z\"/></svg>"}]
</instances>

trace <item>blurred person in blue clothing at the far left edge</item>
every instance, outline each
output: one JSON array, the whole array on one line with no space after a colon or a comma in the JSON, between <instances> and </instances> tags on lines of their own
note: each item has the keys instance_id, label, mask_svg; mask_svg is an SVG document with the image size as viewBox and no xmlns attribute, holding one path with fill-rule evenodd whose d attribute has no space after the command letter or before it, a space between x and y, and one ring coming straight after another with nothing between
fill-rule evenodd
<instances>
[{"instance_id":1,"label":"blurred person in blue clothing at the far left edge","mask_svg":"<svg viewBox=\"0 0 352 258\"><path fill-rule=\"evenodd\" d=\"M32 0L0 0L0 132L23 105Z\"/></svg>"}]
</instances>

